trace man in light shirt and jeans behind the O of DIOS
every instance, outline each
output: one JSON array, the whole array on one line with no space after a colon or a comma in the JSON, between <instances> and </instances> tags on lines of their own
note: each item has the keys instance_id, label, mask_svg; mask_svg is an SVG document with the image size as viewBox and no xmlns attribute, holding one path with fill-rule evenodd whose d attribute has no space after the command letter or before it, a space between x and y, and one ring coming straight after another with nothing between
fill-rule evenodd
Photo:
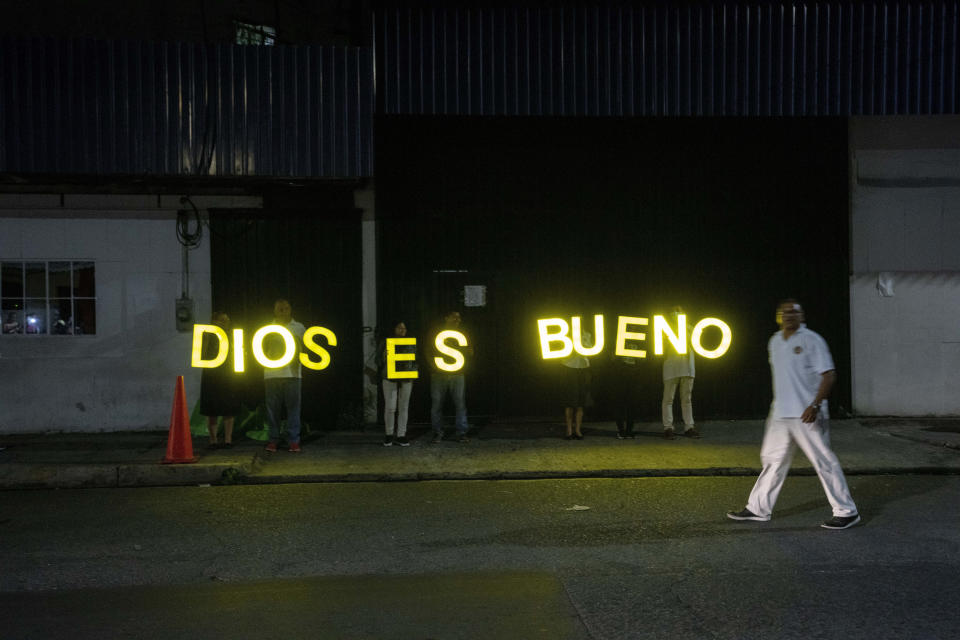
<instances>
[{"instance_id":1,"label":"man in light shirt and jeans behind the O of DIOS","mask_svg":"<svg viewBox=\"0 0 960 640\"><path fill-rule=\"evenodd\" d=\"M273 323L293 334L299 352L303 344L306 327L293 319L290 302L279 299L273 304ZM279 336L272 335L266 342L273 345L280 342ZM273 356L276 357L276 356ZM293 360L284 367L263 370L264 395L267 404L267 421L270 425L269 441L266 450L274 452L280 441L280 412L287 409L287 444L289 451L300 453L300 358L295 354Z\"/></svg>"}]
</instances>

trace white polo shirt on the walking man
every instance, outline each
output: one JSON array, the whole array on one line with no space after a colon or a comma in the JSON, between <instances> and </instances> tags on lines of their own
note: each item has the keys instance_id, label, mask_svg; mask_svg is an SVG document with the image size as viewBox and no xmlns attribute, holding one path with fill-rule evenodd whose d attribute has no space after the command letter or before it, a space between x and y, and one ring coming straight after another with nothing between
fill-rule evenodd
<instances>
[{"instance_id":1,"label":"white polo shirt on the walking man","mask_svg":"<svg viewBox=\"0 0 960 640\"><path fill-rule=\"evenodd\" d=\"M773 334L767 352L773 375L771 415L774 418L799 418L817 397L823 374L836 368L827 342L820 334L801 324L786 340L783 331ZM829 417L826 399L820 404L820 411L824 418Z\"/></svg>"}]
</instances>

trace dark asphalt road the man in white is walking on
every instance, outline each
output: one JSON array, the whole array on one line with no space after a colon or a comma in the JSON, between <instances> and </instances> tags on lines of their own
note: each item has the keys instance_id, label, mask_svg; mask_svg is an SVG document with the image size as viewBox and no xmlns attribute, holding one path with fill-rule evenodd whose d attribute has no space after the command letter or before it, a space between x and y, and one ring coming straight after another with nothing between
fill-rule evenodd
<instances>
[{"instance_id":1,"label":"dark asphalt road the man in white is walking on","mask_svg":"<svg viewBox=\"0 0 960 640\"><path fill-rule=\"evenodd\" d=\"M960 477L0 493L3 638L954 638ZM586 507L586 508L583 508Z\"/></svg>"}]
</instances>

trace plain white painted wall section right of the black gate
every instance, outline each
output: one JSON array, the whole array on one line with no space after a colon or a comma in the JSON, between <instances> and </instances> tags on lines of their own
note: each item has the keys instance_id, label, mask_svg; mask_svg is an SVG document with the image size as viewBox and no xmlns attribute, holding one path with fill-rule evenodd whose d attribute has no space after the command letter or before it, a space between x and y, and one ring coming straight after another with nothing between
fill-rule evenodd
<instances>
[{"instance_id":1,"label":"plain white painted wall section right of the black gate","mask_svg":"<svg viewBox=\"0 0 960 640\"><path fill-rule=\"evenodd\" d=\"M854 118L850 154L854 411L960 415L960 118Z\"/></svg>"}]
</instances>

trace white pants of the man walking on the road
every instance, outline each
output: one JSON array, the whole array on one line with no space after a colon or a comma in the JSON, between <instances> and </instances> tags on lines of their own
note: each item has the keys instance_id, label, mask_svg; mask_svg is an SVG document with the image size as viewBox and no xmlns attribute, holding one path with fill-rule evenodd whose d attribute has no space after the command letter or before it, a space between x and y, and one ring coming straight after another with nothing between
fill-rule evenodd
<instances>
[{"instance_id":1,"label":"white pants of the man walking on the road","mask_svg":"<svg viewBox=\"0 0 960 640\"><path fill-rule=\"evenodd\" d=\"M800 418L767 418L763 446L760 448L763 471L750 492L747 509L758 516L773 513L773 505L787 478L797 446L817 472L827 500L833 507L833 515L846 517L856 514L857 505L850 497L840 461L830 450L830 420L820 416L812 424L803 423Z\"/></svg>"}]
</instances>

